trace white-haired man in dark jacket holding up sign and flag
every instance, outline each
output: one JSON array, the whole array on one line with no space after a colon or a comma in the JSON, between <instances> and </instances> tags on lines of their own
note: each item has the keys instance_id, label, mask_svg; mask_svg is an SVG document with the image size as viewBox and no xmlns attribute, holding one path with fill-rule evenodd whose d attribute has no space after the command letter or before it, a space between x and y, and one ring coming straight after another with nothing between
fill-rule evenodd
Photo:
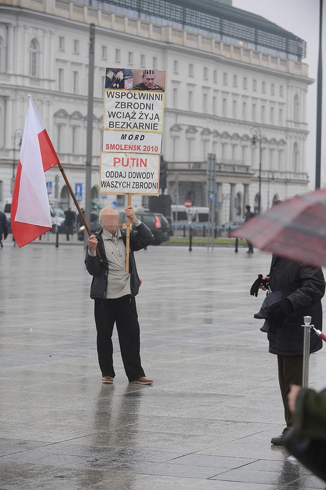
<instances>
[{"instance_id":1,"label":"white-haired man in dark jacket holding up sign and flag","mask_svg":"<svg viewBox=\"0 0 326 490\"><path fill-rule=\"evenodd\" d=\"M110 206L100 211L101 231L88 238L85 265L93 276L90 297L95 300L97 353L102 382L112 383L113 369L112 332L116 324L121 356L129 382L152 384L145 378L140 362L139 324L135 296L140 280L137 274L134 251L149 245L154 237L150 229L136 218L132 206L126 208L127 220L136 225L130 231L130 272L126 272L127 232L120 230L118 211ZM102 261L96 255L96 246Z\"/></svg>"}]
</instances>

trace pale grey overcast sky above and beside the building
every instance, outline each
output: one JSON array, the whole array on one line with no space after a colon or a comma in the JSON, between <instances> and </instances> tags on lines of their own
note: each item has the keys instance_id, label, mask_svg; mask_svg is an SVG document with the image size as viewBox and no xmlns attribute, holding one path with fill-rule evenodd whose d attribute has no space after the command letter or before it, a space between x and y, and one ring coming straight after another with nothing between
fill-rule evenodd
<instances>
[{"instance_id":1,"label":"pale grey overcast sky above and beside the building","mask_svg":"<svg viewBox=\"0 0 326 490\"><path fill-rule=\"evenodd\" d=\"M317 79L318 64L318 33L319 33L319 0L233 0L233 6L248 10L269 19L307 42L307 57L303 60L309 65L309 77ZM323 46L326 39L326 6L323 12ZM325 51L325 49L324 49ZM325 53L324 83L326 86ZM323 108L326 106L325 90L323 90ZM317 83L309 85L307 96L307 120L310 134L307 139L307 172L309 174L311 189L315 188L316 164L316 97ZM325 113L325 110L324 110ZM325 132L325 116L323 117L323 130ZM326 187L326 147L325 138L322 146L322 187Z\"/></svg>"}]
</instances>

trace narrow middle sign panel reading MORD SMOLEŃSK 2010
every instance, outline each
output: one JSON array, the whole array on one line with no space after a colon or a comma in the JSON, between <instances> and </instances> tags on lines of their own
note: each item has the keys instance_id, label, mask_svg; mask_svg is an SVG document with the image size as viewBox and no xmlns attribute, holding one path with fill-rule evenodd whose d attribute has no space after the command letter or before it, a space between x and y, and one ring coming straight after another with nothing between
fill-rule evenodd
<instances>
[{"instance_id":1,"label":"narrow middle sign panel reading MORD SMOLE\u0143SK 2010","mask_svg":"<svg viewBox=\"0 0 326 490\"><path fill-rule=\"evenodd\" d=\"M104 152L161 154L162 134L150 132L103 131Z\"/></svg>"}]
</instances>

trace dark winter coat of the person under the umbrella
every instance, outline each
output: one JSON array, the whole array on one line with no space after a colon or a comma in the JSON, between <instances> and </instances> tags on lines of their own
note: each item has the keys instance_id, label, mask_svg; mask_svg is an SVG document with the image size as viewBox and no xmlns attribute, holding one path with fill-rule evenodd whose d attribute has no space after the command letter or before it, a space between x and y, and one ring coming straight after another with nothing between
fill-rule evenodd
<instances>
[{"instance_id":1,"label":"dark winter coat of the person under the umbrella","mask_svg":"<svg viewBox=\"0 0 326 490\"><path fill-rule=\"evenodd\" d=\"M303 317L311 316L312 324L322 330L321 299L325 294L322 269L273 255L270 287L272 291L281 291L284 299L289 299L293 306L289 318L271 322L268 332L270 352L300 355L303 351ZM319 351L322 347L322 340L311 332L310 352Z\"/></svg>"}]
</instances>

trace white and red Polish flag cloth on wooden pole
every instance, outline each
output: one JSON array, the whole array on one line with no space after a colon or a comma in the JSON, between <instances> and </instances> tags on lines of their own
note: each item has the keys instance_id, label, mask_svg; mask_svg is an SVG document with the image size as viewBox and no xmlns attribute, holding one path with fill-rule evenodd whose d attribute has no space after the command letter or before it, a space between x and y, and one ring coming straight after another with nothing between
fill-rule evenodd
<instances>
[{"instance_id":1,"label":"white and red Polish flag cloth on wooden pole","mask_svg":"<svg viewBox=\"0 0 326 490\"><path fill-rule=\"evenodd\" d=\"M11 204L11 229L19 247L52 228L44 172L59 162L30 95Z\"/></svg>"}]
</instances>

